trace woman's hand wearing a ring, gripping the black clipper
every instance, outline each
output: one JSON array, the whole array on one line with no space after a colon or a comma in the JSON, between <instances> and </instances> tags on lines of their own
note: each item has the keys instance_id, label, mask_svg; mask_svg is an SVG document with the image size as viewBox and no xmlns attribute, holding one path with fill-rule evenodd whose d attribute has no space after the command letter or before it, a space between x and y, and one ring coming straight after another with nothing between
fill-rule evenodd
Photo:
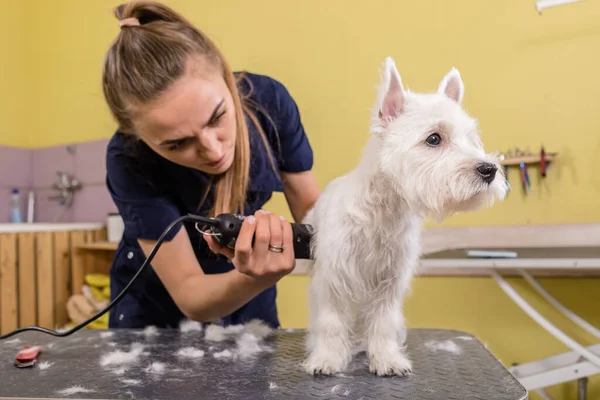
<instances>
[{"instance_id":1,"label":"woman's hand wearing a ring, gripping the black clipper","mask_svg":"<svg viewBox=\"0 0 600 400\"><path fill-rule=\"evenodd\" d=\"M244 219L235 251L221 246L211 236L204 236L204 240L214 253L229 258L239 272L265 281L268 286L289 274L295 266L292 226L270 212L259 210Z\"/></svg>"}]
</instances>

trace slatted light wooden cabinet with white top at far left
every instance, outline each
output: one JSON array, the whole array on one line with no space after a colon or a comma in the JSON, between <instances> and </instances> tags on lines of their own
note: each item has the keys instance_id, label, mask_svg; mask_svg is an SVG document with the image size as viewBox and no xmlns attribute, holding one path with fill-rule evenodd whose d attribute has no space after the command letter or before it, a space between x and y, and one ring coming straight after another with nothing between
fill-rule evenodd
<instances>
[{"instance_id":1,"label":"slatted light wooden cabinet with white top at far left","mask_svg":"<svg viewBox=\"0 0 600 400\"><path fill-rule=\"evenodd\" d=\"M106 240L101 224L0 224L0 333L61 328L87 273L108 273L109 254L80 248Z\"/></svg>"}]
</instances>

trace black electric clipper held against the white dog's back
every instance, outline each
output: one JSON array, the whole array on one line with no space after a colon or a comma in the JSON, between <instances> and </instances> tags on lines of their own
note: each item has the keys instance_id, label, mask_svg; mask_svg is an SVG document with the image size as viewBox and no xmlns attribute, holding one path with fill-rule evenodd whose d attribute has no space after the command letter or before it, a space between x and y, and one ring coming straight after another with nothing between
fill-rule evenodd
<instances>
[{"instance_id":1,"label":"black electric clipper held against the white dog's back","mask_svg":"<svg viewBox=\"0 0 600 400\"><path fill-rule=\"evenodd\" d=\"M220 214L212 219L211 235L221 245L235 250L235 243L242 228L245 217L238 214ZM294 254L296 259L310 259L310 241L313 228L306 224L292 223ZM254 240L252 241L254 243Z\"/></svg>"}]
</instances>

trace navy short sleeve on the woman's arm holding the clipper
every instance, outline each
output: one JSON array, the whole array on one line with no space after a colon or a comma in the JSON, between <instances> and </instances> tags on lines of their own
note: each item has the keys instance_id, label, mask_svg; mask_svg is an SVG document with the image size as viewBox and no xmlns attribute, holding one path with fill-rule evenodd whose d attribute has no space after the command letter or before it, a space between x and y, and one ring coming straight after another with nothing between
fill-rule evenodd
<instances>
[{"instance_id":1,"label":"navy short sleeve on the woman's arm holding the clipper","mask_svg":"<svg viewBox=\"0 0 600 400\"><path fill-rule=\"evenodd\" d=\"M158 186L136 174L131 158L119 145L110 144L106 155L106 184L125 226L129 239L158 240L163 231L181 216L178 208ZM174 226L166 235L171 240L181 228Z\"/></svg>"}]
</instances>

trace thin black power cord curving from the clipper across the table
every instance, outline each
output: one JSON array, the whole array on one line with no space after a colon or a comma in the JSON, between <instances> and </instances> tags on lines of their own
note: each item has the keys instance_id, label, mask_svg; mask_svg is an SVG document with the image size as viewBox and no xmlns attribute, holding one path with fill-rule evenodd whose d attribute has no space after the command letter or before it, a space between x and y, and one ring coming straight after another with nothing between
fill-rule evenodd
<instances>
[{"instance_id":1,"label":"thin black power cord curving from the clipper across the table","mask_svg":"<svg viewBox=\"0 0 600 400\"><path fill-rule=\"evenodd\" d=\"M7 338L9 338L9 337L11 337L13 335L19 334L21 332L26 332L26 331L38 331L38 332L47 333L49 335L57 336L57 337L69 336L69 335L72 335L73 333L77 332L78 330L80 330L81 328L83 328L84 326L86 326L87 324L89 324L89 323L97 320L103 314L106 314L108 311L110 311L119 301L121 301L121 299L123 298L123 296L125 296L125 294L129 290L129 288L133 285L133 283L138 278L138 276L150 264L150 262L152 261L152 259L156 255L156 252L158 252L158 249L162 245L162 242L165 240L165 237L169 234L169 232L177 224L179 224L181 222L185 222L185 221L195 221L196 223L200 222L200 223L203 223L203 224L206 224L206 225L210 225L210 226L215 226L215 224L217 223L217 221L215 221L212 218L201 217L199 215L194 215L194 214L184 215L182 217L177 218L175 221L171 222L171 224L169 224L169 226L160 235L160 238L156 241L156 244L154 245L154 247L150 251L150 254L148 254L148 257L146 257L146 260L142 263L142 266L136 272L136 274L134 275L134 277L131 278L131 281L129 281L129 283L127 284L127 286L125 286L125 289L123 289L121 291L121 293L119 293L119 295L117 297L115 297L114 300L111 301L103 310L98 311L98 313L96 313L96 315L93 315L92 317L88 318L86 321L83 321L80 324L78 324L78 325L74 326L73 328L71 328L71 329L69 329L67 331L64 331L64 332L57 332L57 331L54 331L52 329L42 328L42 327L39 327L39 326L27 326L27 327L16 329L16 330L14 330L12 332L9 332L9 333L6 333L4 335L1 335L0 336L0 340L7 339Z\"/></svg>"}]
</instances>

